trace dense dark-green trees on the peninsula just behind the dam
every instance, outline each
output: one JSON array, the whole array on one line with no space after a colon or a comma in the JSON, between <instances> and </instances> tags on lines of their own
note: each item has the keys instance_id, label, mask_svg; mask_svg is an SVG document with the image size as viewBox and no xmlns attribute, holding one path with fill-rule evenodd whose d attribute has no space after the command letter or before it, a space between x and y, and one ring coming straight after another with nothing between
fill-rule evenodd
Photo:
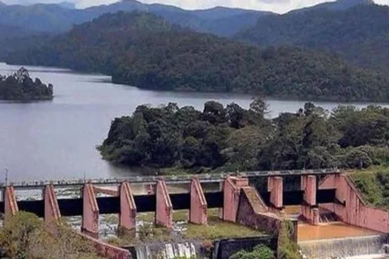
<instances>
[{"instance_id":1,"label":"dense dark-green trees on the peninsula just behind the dam","mask_svg":"<svg viewBox=\"0 0 389 259\"><path fill-rule=\"evenodd\" d=\"M193 170L360 168L389 162L389 109L339 106L329 112L306 103L296 113L265 116L255 99L249 109L205 103L204 110L138 106L115 118L99 147L117 164Z\"/></svg>"}]
</instances>

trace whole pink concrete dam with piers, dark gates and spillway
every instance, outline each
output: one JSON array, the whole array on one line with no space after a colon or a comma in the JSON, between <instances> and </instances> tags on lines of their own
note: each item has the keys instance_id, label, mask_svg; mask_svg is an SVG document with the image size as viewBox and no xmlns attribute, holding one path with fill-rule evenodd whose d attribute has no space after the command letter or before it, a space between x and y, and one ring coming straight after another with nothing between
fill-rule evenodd
<instances>
[{"instance_id":1,"label":"whole pink concrete dam with piers, dark gates and spillway","mask_svg":"<svg viewBox=\"0 0 389 259\"><path fill-rule=\"evenodd\" d=\"M81 197L57 198L56 189L66 186L80 187ZM136 186L146 193L133 192ZM33 189L43 190L42 200L17 198L18 190ZM173 228L174 210L187 210L188 223L207 226L207 210L218 209L222 221L274 233L273 240L288 219L294 226L291 239L307 258L381 256L388 243L388 211L366 204L351 177L331 169L7 183L3 197L0 212L6 219L19 210L35 213L47 224L63 216L81 215L82 235L103 255L116 259L129 257L130 250L99 240L99 214L118 214L119 227L132 230L137 213L154 212L155 224L169 229ZM255 242L262 242L258 240ZM273 243L277 250L277 242ZM240 247L235 245L230 252ZM166 244L165 248L166 254L181 249L190 257L196 250L185 242Z\"/></svg>"}]
</instances>

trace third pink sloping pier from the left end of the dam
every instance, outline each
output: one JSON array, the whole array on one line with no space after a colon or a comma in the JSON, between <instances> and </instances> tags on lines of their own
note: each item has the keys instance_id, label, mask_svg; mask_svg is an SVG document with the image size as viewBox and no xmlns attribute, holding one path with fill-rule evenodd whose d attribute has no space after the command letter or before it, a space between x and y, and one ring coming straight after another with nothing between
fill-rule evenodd
<instances>
[{"instance_id":1,"label":"third pink sloping pier from the left end of the dam","mask_svg":"<svg viewBox=\"0 0 389 259\"><path fill-rule=\"evenodd\" d=\"M83 189L83 222L81 231L94 238L99 236L99 207L91 184L85 184Z\"/></svg>"}]
</instances>

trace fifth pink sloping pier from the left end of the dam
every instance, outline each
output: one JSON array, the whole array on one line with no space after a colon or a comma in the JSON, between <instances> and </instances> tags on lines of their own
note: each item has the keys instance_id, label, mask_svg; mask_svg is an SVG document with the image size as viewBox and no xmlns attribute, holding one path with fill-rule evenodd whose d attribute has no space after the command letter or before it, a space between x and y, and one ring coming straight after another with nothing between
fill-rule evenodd
<instances>
[{"instance_id":1,"label":"fifth pink sloping pier from the left end of the dam","mask_svg":"<svg viewBox=\"0 0 389 259\"><path fill-rule=\"evenodd\" d=\"M157 182L155 194L155 225L173 228L173 205L165 181Z\"/></svg>"}]
</instances>

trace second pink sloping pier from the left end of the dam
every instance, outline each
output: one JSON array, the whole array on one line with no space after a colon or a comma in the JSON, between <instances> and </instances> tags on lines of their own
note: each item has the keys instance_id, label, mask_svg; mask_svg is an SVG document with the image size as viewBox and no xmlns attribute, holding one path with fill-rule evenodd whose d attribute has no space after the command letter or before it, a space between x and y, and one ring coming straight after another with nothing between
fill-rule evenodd
<instances>
[{"instance_id":1,"label":"second pink sloping pier from the left end of the dam","mask_svg":"<svg viewBox=\"0 0 389 259\"><path fill-rule=\"evenodd\" d=\"M45 201L45 224L50 225L57 222L61 218L57 197L55 195L54 186L47 185L44 189Z\"/></svg>"}]
</instances>

